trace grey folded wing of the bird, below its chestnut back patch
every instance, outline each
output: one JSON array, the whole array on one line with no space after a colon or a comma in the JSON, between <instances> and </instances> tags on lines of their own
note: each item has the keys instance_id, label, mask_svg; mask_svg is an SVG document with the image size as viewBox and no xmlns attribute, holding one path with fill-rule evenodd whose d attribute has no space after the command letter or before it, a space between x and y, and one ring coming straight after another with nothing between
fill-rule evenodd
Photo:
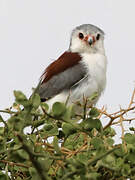
<instances>
[{"instance_id":1,"label":"grey folded wing of the bird, below its chestnut back patch","mask_svg":"<svg viewBox=\"0 0 135 180\"><path fill-rule=\"evenodd\" d=\"M41 99L49 99L64 90L69 90L74 85L76 86L85 76L87 76L87 70L84 65L79 63L42 83L39 95Z\"/></svg>"}]
</instances>

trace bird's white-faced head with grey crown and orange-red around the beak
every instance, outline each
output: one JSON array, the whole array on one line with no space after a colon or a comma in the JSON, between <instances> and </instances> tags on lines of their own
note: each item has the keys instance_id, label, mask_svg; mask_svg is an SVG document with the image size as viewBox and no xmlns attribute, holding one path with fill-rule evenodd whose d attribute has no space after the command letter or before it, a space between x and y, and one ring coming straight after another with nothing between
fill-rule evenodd
<instances>
[{"instance_id":1,"label":"bird's white-faced head with grey crown and orange-red around the beak","mask_svg":"<svg viewBox=\"0 0 135 180\"><path fill-rule=\"evenodd\" d=\"M69 50L78 53L104 54L104 32L91 24L76 27L70 40Z\"/></svg>"}]
</instances>

